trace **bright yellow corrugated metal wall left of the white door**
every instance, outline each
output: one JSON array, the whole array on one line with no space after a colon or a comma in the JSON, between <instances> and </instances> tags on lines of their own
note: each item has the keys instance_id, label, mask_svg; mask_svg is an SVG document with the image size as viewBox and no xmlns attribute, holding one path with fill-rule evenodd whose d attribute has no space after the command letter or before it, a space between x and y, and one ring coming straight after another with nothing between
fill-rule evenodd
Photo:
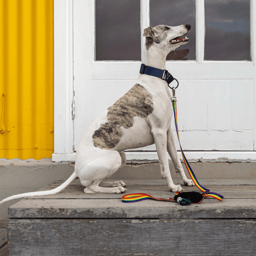
<instances>
[{"instance_id":1,"label":"bright yellow corrugated metal wall left of the white door","mask_svg":"<svg viewBox=\"0 0 256 256\"><path fill-rule=\"evenodd\" d=\"M0 5L0 158L51 158L54 0Z\"/></svg>"}]
</instances>

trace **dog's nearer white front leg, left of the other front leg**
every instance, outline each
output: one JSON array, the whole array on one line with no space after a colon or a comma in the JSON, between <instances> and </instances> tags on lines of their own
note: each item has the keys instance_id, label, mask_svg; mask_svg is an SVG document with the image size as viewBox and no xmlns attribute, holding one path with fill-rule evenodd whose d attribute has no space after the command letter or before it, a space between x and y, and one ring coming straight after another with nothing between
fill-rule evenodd
<instances>
[{"instance_id":1,"label":"dog's nearer white front leg, left of the other front leg","mask_svg":"<svg viewBox=\"0 0 256 256\"><path fill-rule=\"evenodd\" d=\"M156 151L158 152L158 158L161 168L162 178L166 178L170 191L177 192L183 191L182 186L175 185L170 175L169 162L167 157L167 134L164 129L152 129L154 137L154 143L156 144Z\"/></svg>"}]
</instances>

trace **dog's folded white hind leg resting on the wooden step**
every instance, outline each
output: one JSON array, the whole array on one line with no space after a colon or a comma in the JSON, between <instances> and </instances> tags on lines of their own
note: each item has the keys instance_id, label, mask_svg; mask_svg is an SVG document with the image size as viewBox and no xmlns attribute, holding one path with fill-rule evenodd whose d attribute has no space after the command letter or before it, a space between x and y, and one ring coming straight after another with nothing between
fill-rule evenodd
<instances>
[{"instance_id":1,"label":"dog's folded white hind leg resting on the wooden step","mask_svg":"<svg viewBox=\"0 0 256 256\"><path fill-rule=\"evenodd\" d=\"M81 184L86 186L84 193L122 193L126 191L124 182L107 183L105 180L121 166L122 159L118 151L101 150L97 157L92 156L78 172ZM111 187L103 187L103 186Z\"/></svg>"}]
</instances>

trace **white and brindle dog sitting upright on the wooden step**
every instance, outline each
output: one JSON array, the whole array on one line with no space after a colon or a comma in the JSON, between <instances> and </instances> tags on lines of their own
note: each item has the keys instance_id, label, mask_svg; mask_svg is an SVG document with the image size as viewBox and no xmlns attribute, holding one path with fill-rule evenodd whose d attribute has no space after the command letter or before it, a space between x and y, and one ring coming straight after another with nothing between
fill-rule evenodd
<instances>
[{"instance_id":1,"label":"white and brindle dog sitting upright on the wooden step","mask_svg":"<svg viewBox=\"0 0 256 256\"><path fill-rule=\"evenodd\" d=\"M190 25L146 28L143 34L146 40L142 63L165 70L167 54L189 41L182 37L190 28ZM90 124L76 151L74 173L66 182L50 191L10 196L0 204L24 196L58 193L76 178L86 187L84 193L122 193L126 191L124 182L105 180L126 163L124 150L153 143L156 144L162 178L166 178L170 191L182 191L182 186L175 185L172 181L167 151L176 172L182 176L183 183L193 186L192 180L186 178L177 155L170 128L172 114L172 96L167 82L154 76L139 74L135 86Z\"/></svg>"}]
</instances>

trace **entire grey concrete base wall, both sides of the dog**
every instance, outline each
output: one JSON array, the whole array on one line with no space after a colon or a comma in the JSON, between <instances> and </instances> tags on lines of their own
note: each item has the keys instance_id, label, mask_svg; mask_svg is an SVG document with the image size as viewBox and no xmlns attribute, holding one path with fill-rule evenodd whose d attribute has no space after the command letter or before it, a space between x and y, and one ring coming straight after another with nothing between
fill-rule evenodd
<instances>
[{"instance_id":1,"label":"entire grey concrete base wall, both sides of the dog","mask_svg":"<svg viewBox=\"0 0 256 256\"><path fill-rule=\"evenodd\" d=\"M183 166L185 169L185 166ZM256 179L256 162L194 162L191 167L198 180L202 179ZM56 180L66 180L74 167L68 162L54 163L51 159L40 161L0 159L0 200L14 194L37 191ZM182 183L170 163L172 178ZM186 169L185 169L186 172ZM187 174L187 172L186 172ZM189 175L187 174L187 177ZM128 162L111 178L161 178L157 162ZM19 200L6 202L0 206L0 228L6 227L7 208Z\"/></svg>"}]
</instances>

